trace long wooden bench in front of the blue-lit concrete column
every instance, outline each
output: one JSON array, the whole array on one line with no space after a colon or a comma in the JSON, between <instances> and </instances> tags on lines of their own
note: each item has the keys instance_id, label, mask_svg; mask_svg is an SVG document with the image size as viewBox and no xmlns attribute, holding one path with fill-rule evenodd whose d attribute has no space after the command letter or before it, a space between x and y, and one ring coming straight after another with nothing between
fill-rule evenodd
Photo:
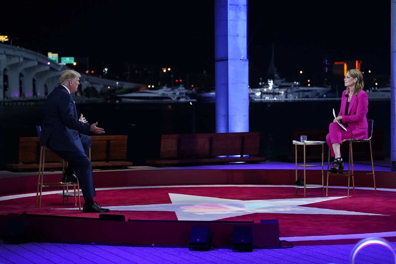
<instances>
[{"instance_id":1,"label":"long wooden bench in front of the blue-lit concrete column","mask_svg":"<svg viewBox=\"0 0 396 264\"><path fill-rule=\"evenodd\" d=\"M259 132L162 135L160 158L151 165L264 161Z\"/></svg>"}]
</instances>

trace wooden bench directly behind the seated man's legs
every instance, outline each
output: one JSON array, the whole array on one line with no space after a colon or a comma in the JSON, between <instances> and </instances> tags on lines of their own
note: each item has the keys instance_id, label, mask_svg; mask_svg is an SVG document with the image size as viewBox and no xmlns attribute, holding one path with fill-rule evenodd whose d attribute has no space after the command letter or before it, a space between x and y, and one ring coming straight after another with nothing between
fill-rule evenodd
<instances>
[{"instance_id":1,"label":"wooden bench directly behind the seated man's legs","mask_svg":"<svg viewBox=\"0 0 396 264\"><path fill-rule=\"evenodd\" d=\"M126 135L92 136L91 163L92 167L131 166L126 161ZM7 164L9 169L38 169L40 160L40 142L38 137L19 138L18 164ZM61 168L62 159L51 150L46 150L45 168Z\"/></svg>"}]
</instances>

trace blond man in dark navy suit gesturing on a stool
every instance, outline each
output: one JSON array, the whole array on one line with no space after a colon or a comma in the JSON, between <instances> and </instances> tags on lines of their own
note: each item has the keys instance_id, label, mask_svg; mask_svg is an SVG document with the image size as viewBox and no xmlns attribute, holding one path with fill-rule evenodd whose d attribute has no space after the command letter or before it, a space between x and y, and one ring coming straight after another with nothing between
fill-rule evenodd
<instances>
[{"instance_id":1,"label":"blond man in dark navy suit gesturing on a stool","mask_svg":"<svg viewBox=\"0 0 396 264\"><path fill-rule=\"evenodd\" d=\"M89 131L96 134L103 134L105 131L96 126L97 122L89 125L82 115L78 118L71 93L77 90L80 77L74 70L64 70L61 73L59 86L46 99L40 144L69 163L63 181L76 182L76 177L78 178L85 201L83 212L106 213L110 210L93 201L96 192L92 165L88 158L92 140L87 136Z\"/></svg>"}]
</instances>

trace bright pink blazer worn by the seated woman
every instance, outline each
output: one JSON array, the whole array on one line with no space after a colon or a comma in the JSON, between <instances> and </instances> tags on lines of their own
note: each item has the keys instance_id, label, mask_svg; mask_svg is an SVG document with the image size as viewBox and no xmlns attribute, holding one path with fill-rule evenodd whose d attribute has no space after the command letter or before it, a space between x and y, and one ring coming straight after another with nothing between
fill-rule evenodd
<instances>
[{"instance_id":1,"label":"bright pink blazer worn by the seated woman","mask_svg":"<svg viewBox=\"0 0 396 264\"><path fill-rule=\"evenodd\" d=\"M349 103L348 113L345 113L346 102L348 97L345 97L346 91L343 91L341 97L341 109L339 116L343 116L342 122L348 124L352 131L353 139L367 139L367 112L369 101L367 99L367 93L360 90L358 94L352 95ZM349 94L346 93L347 95Z\"/></svg>"}]
</instances>

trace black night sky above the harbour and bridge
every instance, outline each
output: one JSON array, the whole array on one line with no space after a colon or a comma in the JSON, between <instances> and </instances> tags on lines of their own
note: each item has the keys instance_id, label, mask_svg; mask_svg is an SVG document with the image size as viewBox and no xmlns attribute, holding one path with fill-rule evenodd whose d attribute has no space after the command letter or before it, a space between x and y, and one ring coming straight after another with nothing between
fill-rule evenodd
<instances>
[{"instance_id":1,"label":"black night sky above the harbour and bridge","mask_svg":"<svg viewBox=\"0 0 396 264\"><path fill-rule=\"evenodd\" d=\"M162 67L193 80L204 71L214 85L213 1L2 1L0 34L46 55L89 57L89 70L131 82L158 80ZM362 60L362 70L388 82L390 1L248 2L249 84L265 78L272 44L280 76L299 70L320 84L324 57ZM7 22L6 22L7 21ZM82 72L83 63L75 69ZM146 70L144 70L146 69ZM136 71L138 73L136 73ZM143 74L139 74L143 72ZM150 71L150 74L148 74ZM197 77L198 78L198 77ZM384 80L387 79L387 80Z\"/></svg>"}]
</instances>

